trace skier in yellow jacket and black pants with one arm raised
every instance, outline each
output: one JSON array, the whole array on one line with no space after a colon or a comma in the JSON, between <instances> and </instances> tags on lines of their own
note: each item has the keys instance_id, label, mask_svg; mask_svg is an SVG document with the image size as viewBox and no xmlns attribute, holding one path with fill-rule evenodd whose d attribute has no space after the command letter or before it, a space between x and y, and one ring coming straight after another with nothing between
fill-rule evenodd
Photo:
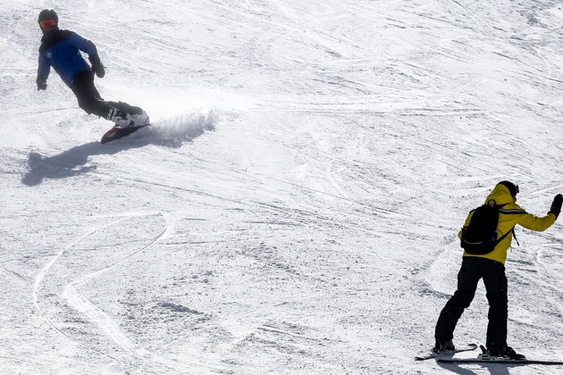
<instances>
[{"instance_id":1,"label":"skier in yellow jacket and black pants with one arm raised","mask_svg":"<svg viewBox=\"0 0 563 375\"><path fill-rule=\"evenodd\" d=\"M471 304L477 283L480 279L483 279L487 290L487 300L489 301L489 325L486 343L489 354L511 359L524 358L524 355L517 354L514 349L507 345L508 293L504 262L507 259L507 251L512 241L514 227L520 225L535 231L550 228L559 217L563 196L560 194L555 196L550 212L544 217L537 217L525 212L522 207L516 204L517 194L517 185L510 181L501 181L485 199L485 204L493 200L495 204L502 205L499 210L497 238L503 238L494 246L491 253L477 255L465 252L463 254L461 269L458 273L458 290L444 306L436 323L434 352L447 352L455 348L452 343L453 331L461 314ZM474 211L467 216L464 228L469 225L473 213ZM461 233L460 230L460 238Z\"/></svg>"}]
</instances>

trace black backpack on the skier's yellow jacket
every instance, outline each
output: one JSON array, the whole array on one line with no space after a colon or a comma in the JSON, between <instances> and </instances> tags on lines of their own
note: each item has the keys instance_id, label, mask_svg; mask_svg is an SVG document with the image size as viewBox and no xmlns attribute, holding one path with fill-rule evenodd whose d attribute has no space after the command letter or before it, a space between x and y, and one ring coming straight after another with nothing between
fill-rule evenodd
<instances>
[{"instance_id":1,"label":"black backpack on the skier's yellow jacket","mask_svg":"<svg viewBox=\"0 0 563 375\"><path fill-rule=\"evenodd\" d=\"M497 227L499 226L499 210L505 204L496 204L489 201L481 207L477 207L469 225L461 231L461 247L467 254L483 255L494 250L494 246L507 237L512 230L508 230L502 237L497 239Z\"/></svg>"}]
</instances>

